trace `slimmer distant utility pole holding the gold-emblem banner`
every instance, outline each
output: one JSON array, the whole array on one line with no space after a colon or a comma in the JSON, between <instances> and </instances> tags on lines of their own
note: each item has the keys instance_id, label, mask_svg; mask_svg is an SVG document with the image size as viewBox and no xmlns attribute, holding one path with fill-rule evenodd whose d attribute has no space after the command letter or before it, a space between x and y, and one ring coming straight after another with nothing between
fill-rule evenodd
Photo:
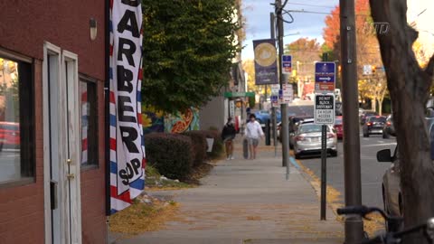
<instances>
[{"instance_id":1,"label":"slimmer distant utility pole holding the gold-emblem banner","mask_svg":"<svg viewBox=\"0 0 434 244\"><path fill-rule=\"evenodd\" d=\"M282 0L276 1L276 16L278 20L278 77L280 89L283 89L283 83L285 79L282 74L282 55L283 55L283 16L282 16ZM282 115L282 129L281 129L281 137L282 137L282 166L287 167L287 180L289 179L289 145L288 145L288 109L287 104L282 103L280 105L280 113Z\"/></svg>"}]
</instances>

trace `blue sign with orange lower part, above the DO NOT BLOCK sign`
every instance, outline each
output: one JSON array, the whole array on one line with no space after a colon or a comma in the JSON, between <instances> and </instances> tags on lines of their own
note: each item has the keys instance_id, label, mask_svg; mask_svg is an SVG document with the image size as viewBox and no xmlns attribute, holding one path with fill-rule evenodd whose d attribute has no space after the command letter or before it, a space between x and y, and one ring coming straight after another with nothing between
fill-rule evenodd
<instances>
[{"instance_id":1,"label":"blue sign with orange lower part, above the DO NOT BLOCK sign","mask_svg":"<svg viewBox=\"0 0 434 244\"><path fill-rule=\"evenodd\" d=\"M336 64L333 61L318 61L315 64L315 91L335 92Z\"/></svg>"}]
</instances>

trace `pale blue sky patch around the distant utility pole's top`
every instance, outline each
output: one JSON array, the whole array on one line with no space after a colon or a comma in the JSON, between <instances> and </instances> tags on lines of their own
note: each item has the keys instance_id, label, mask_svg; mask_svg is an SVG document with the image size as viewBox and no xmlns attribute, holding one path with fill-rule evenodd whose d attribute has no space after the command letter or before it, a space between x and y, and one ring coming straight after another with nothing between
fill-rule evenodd
<instances>
[{"instance_id":1,"label":"pale blue sky patch around the distant utility pole's top","mask_svg":"<svg viewBox=\"0 0 434 244\"><path fill-rule=\"evenodd\" d=\"M285 2L285 0L282 0ZM269 13L274 12L274 0L243 0L243 15L246 18L246 40L241 52L242 60L253 59L253 40L267 39L270 37ZM293 23L284 23L284 43L296 41L301 37L316 38L320 43L323 40L323 28L325 16L329 14L339 0L289 0L286 10L319 12L324 14L291 13ZM285 15L286 20L290 20Z\"/></svg>"}]
</instances>

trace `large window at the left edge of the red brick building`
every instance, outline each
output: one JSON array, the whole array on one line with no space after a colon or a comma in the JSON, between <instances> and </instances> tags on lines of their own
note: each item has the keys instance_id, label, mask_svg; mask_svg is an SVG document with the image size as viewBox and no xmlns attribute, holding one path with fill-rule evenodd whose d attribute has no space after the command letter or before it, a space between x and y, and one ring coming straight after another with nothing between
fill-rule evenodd
<instances>
[{"instance_id":1,"label":"large window at the left edge of the red brick building","mask_svg":"<svg viewBox=\"0 0 434 244\"><path fill-rule=\"evenodd\" d=\"M0 184L34 177L32 64L0 56Z\"/></svg>"}]
</instances>

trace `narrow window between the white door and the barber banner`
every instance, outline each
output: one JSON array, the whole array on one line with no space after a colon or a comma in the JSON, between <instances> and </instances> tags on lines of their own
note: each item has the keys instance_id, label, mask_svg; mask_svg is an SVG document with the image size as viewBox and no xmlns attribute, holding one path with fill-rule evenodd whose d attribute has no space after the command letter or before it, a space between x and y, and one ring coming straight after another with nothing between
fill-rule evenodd
<instances>
[{"instance_id":1,"label":"narrow window between the white door and the barber banner","mask_svg":"<svg viewBox=\"0 0 434 244\"><path fill-rule=\"evenodd\" d=\"M97 83L80 77L81 166L98 165Z\"/></svg>"}]
</instances>

